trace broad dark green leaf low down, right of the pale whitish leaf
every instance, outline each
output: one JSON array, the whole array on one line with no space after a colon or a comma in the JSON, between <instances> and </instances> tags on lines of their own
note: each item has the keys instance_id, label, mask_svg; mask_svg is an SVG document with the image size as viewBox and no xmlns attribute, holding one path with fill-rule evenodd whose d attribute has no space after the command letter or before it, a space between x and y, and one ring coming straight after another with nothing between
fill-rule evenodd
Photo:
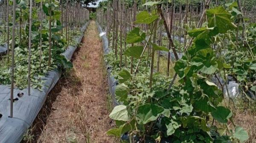
<instances>
[{"instance_id":1,"label":"broad dark green leaf low down, right of the pale whitish leaf","mask_svg":"<svg viewBox=\"0 0 256 143\"><path fill-rule=\"evenodd\" d=\"M159 115L164 112L164 108L156 104L143 104L138 107L137 117L143 124L157 120Z\"/></svg>"}]
</instances>

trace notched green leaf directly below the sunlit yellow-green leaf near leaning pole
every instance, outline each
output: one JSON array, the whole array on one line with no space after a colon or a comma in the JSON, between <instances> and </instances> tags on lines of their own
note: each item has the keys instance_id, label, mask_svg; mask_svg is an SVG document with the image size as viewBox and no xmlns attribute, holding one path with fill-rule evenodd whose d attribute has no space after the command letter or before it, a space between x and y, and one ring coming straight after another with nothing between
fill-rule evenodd
<instances>
[{"instance_id":1,"label":"notched green leaf directly below the sunlit yellow-green leaf near leaning pole","mask_svg":"<svg viewBox=\"0 0 256 143\"><path fill-rule=\"evenodd\" d=\"M143 33L140 35L140 28L135 27L133 30L131 30L126 37L126 42L128 44L131 43L137 43L137 42L141 42L146 38L146 34Z\"/></svg>"}]
</instances>

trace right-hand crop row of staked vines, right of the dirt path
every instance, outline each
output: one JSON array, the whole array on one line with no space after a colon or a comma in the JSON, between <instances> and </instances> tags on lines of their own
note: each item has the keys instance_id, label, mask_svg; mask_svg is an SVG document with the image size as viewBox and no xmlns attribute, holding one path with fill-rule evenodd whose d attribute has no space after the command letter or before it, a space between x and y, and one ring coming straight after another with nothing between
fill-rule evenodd
<instances>
[{"instance_id":1,"label":"right-hand crop row of staked vines, right of the dirt path","mask_svg":"<svg viewBox=\"0 0 256 143\"><path fill-rule=\"evenodd\" d=\"M116 127L107 134L132 143L255 142L254 127L236 122L236 98L255 106L255 6L248 3L100 3L96 18L111 48L105 61L118 80L119 105L109 115ZM230 95L231 82L239 95Z\"/></svg>"}]
</instances>

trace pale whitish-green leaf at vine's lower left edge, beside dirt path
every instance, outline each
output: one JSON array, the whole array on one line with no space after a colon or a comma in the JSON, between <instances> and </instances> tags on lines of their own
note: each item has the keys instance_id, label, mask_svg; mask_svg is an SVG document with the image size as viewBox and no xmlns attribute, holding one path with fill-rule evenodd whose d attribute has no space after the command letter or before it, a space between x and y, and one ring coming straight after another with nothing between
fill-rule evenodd
<instances>
[{"instance_id":1,"label":"pale whitish-green leaf at vine's lower left edge, beside dirt path","mask_svg":"<svg viewBox=\"0 0 256 143\"><path fill-rule=\"evenodd\" d=\"M124 105L118 105L114 107L112 112L110 113L109 117L113 120L119 120L119 121L129 121L130 118L128 116L128 111L126 109L126 106Z\"/></svg>"}]
</instances>

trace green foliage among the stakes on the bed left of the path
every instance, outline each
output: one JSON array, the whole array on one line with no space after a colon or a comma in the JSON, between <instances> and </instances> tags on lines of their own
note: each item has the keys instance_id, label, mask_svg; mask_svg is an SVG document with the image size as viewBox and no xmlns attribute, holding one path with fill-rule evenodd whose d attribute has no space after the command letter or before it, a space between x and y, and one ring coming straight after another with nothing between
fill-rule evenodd
<instances>
[{"instance_id":1,"label":"green foliage among the stakes on the bed left of the path","mask_svg":"<svg viewBox=\"0 0 256 143\"><path fill-rule=\"evenodd\" d=\"M35 1L36 3L40 3L40 0ZM19 23L20 20L23 22L29 21L29 1L19 0L17 1L16 8L16 22ZM42 85L44 84L44 80L41 80L43 76L47 74L49 70L53 70L56 68L72 68L73 65L70 61L61 55L66 48L67 42L63 39L60 31L63 29L63 25L61 25L61 11L58 11L59 3L58 1L52 0L44 1L43 0L43 12L46 14L40 23L38 20L38 9L32 8L32 48L31 48L31 85L32 88L40 90ZM52 14L52 49L51 49L51 65L48 65L49 59L49 11L51 10ZM39 64L40 57L40 24L42 24L42 54L41 54L41 68ZM12 25L12 23L10 23ZM10 27L10 31L12 28ZM29 36L29 28L25 26L21 27L21 39L18 38L18 35L15 35L15 73L14 80L15 86L23 89L27 87L28 83L28 36ZM77 35L81 35L81 33L76 32L71 36L75 37ZM10 37L11 38L11 37ZM2 37L0 38L2 39ZM12 39L10 39L11 41ZM75 40L74 40L75 41ZM3 41L0 41L1 43ZM11 45L10 45L11 47ZM9 57L10 59L10 57ZM1 59L0 63L0 84L11 84L10 77L10 61L7 62L7 56L4 56Z\"/></svg>"}]
</instances>

